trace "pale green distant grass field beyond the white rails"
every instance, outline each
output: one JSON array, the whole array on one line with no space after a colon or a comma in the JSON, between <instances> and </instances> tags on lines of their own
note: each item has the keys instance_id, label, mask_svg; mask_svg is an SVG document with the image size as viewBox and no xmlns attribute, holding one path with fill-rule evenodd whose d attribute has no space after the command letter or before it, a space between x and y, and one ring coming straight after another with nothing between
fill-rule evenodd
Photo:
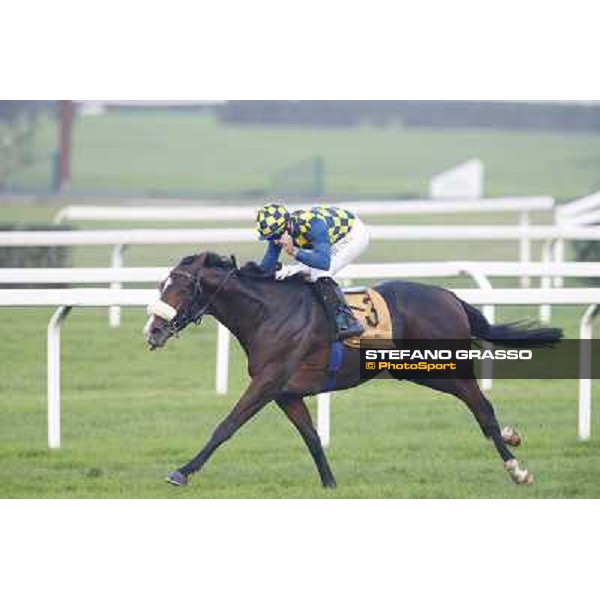
<instances>
[{"instance_id":1,"label":"pale green distant grass field beyond the white rails","mask_svg":"<svg viewBox=\"0 0 600 600\"><path fill-rule=\"evenodd\" d=\"M47 189L56 124L42 122L37 160L12 179ZM322 156L329 197L427 195L429 178L473 157L486 169L489 196L570 198L600 187L600 136L587 133L234 126L210 114L148 112L79 117L71 191L268 193L273 175Z\"/></svg>"}]
</instances>

